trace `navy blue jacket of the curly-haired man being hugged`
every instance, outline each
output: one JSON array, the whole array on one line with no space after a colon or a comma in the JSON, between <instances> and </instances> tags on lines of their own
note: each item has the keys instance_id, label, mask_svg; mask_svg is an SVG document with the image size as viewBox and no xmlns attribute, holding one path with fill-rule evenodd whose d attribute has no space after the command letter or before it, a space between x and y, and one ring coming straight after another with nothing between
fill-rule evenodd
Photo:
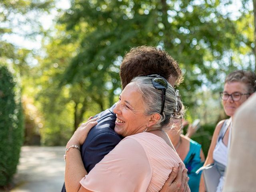
<instances>
[{"instance_id":1,"label":"navy blue jacket of the curly-haired man being hugged","mask_svg":"<svg viewBox=\"0 0 256 192\"><path fill-rule=\"evenodd\" d=\"M115 106L114 104L110 109L96 115L100 116L97 120L98 124L90 130L81 146L84 168L88 173L122 140L122 137L114 131L116 115L113 113L113 108ZM66 192L65 184L62 192Z\"/></svg>"}]
</instances>

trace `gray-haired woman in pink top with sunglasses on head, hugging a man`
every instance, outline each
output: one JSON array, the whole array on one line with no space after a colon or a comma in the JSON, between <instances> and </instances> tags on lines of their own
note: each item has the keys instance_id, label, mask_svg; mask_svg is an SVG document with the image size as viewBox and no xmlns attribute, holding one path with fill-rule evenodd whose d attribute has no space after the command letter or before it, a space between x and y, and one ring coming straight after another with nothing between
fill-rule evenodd
<instances>
[{"instance_id":1,"label":"gray-haired woman in pink top with sunglasses on head, hugging a man","mask_svg":"<svg viewBox=\"0 0 256 192\"><path fill-rule=\"evenodd\" d=\"M136 77L120 94L113 112L116 114L114 130L124 139L89 173L82 164L79 150L68 151L67 191L168 191L164 184L172 168L180 163L182 169L185 168L165 132L170 129L171 120L184 113L174 88L158 75ZM96 119L82 124L67 148L79 148L96 124Z\"/></svg>"}]
</instances>

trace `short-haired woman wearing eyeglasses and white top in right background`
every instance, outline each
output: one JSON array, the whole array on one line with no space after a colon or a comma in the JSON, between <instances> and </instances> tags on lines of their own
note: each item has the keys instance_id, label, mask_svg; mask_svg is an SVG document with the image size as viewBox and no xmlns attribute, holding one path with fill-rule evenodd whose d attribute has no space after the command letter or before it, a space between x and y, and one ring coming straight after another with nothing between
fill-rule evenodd
<instances>
[{"instance_id":1,"label":"short-haired woman wearing eyeglasses and white top in right background","mask_svg":"<svg viewBox=\"0 0 256 192\"><path fill-rule=\"evenodd\" d=\"M237 108L256 91L256 75L251 71L236 70L226 76L224 90L220 93L224 111L229 119L220 121L212 136L212 142L204 165L214 163L220 172L220 180L216 191L221 192L224 184L224 172L228 162L228 150L232 137L232 117ZM205 191L204 182L200 192Z\"/></svg>"}]
</instances>

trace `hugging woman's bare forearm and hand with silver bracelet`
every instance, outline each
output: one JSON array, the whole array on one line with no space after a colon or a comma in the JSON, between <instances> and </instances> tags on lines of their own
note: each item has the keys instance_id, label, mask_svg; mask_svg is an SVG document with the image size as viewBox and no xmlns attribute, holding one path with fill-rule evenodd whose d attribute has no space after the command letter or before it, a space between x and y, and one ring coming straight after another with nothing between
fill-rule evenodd
<instances>
[{"instance_id":1,"label":"hugging woman's bare forearm and hand with silver bracelet","mask_svg":"<svg viewBox=\"0 0 256 192\"><path fill-rule=\"evenodd\" d=\"M74 132L73 136L68 141L66 148L72 145L77 145L80 147L84 143L86 136L90 129L97 124L97 118L91 119L86 123L83 123ZM83 188L80 184L80 180L87 175L82 162L80 151L77 148L70 148L66 153L66 167L65 167L65 186L66 191L83 191L90 192Z\"/></svg>"}]
</instances>

